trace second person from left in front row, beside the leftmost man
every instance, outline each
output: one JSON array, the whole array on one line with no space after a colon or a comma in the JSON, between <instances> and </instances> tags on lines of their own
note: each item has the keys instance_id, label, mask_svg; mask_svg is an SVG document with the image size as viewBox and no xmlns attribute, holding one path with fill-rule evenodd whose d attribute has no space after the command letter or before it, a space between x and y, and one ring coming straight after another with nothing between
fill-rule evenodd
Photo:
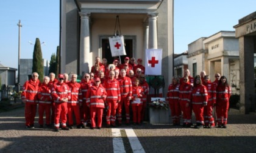
<instances>
[{"instance_id":1,"label":"second person from left in front row, beside the leftmost man","mask_svg":"<svg viewBox=\"0 0 256 153\"><path fill-rule=\"evenodd\" d=\"M51 86L49 86L49 77L43 78L43 83L38 89L38 123L39 128L43 128L43 115L45 112L46 127L51 127Z\"/></svg>"}]
</instances>

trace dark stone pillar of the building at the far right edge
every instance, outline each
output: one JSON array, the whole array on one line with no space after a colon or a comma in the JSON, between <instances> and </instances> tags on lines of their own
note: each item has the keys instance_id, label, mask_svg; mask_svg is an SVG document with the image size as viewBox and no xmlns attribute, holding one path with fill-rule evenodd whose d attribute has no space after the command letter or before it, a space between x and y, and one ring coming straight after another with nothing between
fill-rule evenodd
<instances>
[{"instance_id":1,"label":"dark stone pillar of the building at the far right edge","mask_svg":"<svg viewBox=\"0 0 256 153\"><path fill-rule=\"evenodd\" d=\"M240 112L249 114L255 110L254 103L254 39L252 36L239 38L240 56Z\"/></svg>"}]
</instances>

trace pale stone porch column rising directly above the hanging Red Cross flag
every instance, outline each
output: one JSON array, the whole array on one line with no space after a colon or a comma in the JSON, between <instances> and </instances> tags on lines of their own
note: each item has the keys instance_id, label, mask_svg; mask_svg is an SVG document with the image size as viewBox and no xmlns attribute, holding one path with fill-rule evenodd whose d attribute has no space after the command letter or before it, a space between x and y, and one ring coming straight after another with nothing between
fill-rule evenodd
<instances>
[{"instance_id":1,"label":"pale stone porch column rising directly above the hanging Red Cross flag","mask_svg":"<svg viewBox=\"0 0 256 153\"><path fill-rule=\"evenodd\" d=\"M149 14L149 49L157 49L157 13Z\"/></svg>"}]
</instances>

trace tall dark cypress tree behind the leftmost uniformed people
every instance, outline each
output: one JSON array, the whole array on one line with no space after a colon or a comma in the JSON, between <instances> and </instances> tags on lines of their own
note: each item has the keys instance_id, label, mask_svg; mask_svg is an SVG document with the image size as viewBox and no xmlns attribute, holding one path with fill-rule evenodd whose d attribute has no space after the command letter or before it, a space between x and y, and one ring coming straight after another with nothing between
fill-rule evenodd
<instances>
[{"instance_id":1,"label":"tall dark cypress tree behind the leftmost uniformed people","mask_svg":"<svg viewBox=\"0 0 256 153\"><path fill-rule=\"evenodd\" d=\"M43 55L41 52L41 43L39 38L35 39L35 46L33 52L33 66L32 72L37 72L39 77L38 79L42 82L44 73L43 73Z\"/></svg>"}]
</instances>

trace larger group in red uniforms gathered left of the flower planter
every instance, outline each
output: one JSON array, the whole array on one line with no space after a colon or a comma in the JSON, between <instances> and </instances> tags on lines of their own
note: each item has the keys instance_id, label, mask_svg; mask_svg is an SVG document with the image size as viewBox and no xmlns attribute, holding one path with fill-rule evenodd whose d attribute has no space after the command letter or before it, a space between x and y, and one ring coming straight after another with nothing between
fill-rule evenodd
<instances>
[{"instance_id":1,"label":"larger group in red uniforms gathered left of the flower planter","mask_svg":"<svg viewBox=\"0 0 256 153\"><path fill-rule=\"evenodd\" d=\"M26 127L34 128L37 104L39 127L44 127L45 113L45 126L54 124L54 131L73 129L73 114L77 128L91 123L91 129L101 129L104 109L107 109L106 127L121 126L123 106L126 124L130 124L132 107L133 124L140 125L144 120L149 86L142 60L137 60L138 65L135 58L131 60L129 63L129 57L126 57L124 64L114 61L108 65L106 59L102 59L104 63L101 63L100 58L96 57L91 72L85 73L80 83L76 82L76 74L72 74L71 80L68 80L66 73L59 74L57 79L54 73L50 73L40 83L38 73L32 73L32 78L24 83L21 95L25 103Z\"/></svg>"}]
</instances>

